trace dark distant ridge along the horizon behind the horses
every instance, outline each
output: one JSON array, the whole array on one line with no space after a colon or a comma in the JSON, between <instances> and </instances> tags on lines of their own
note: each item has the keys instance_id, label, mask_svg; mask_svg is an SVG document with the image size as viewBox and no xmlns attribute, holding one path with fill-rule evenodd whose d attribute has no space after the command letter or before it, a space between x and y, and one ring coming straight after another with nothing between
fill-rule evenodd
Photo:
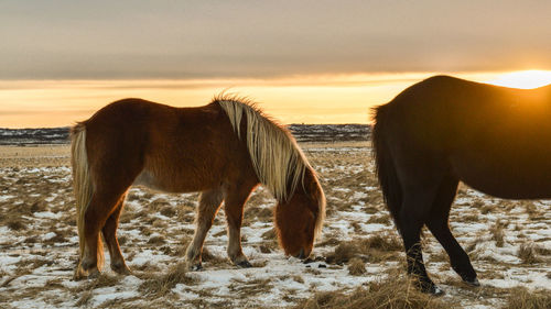
<instances>
[{"instance_id":1,"label":"dark distant ridge along the horizon behind the horses","mask_svg":"<svg viewBox=\"0 0 551 309\"><path fill-rule=\"evenodd\" d=\"M290 124L289 130L299 142L367 141L371 135L368 124ZM63 145L68 144L69 128L2 129L0 145Z\"/></svg>"}]
</instances>

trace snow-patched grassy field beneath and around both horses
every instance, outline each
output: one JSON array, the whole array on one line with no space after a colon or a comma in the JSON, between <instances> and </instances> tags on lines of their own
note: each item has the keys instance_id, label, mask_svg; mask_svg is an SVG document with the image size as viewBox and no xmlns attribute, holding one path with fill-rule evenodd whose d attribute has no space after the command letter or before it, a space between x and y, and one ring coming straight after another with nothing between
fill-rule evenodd
<instances>
[{"instance_id":1,"label":"snow-patched grassy field beneath and around both horses","mask_svg":"<svg viewBox=\"0 0 551 309\"><path fill-rule=\"evenodd\" d=\"M106 252L98 278L73 282L77 261L68 146L0 147L0 308L288 308L323 291L352 293L404 273L401 241L383 207L368 142L303 143L322 178L327 219L304 264L274 239L274 200L259 188L246 206L242 246L253 267L226 256L224 210L207 235L204 271L186 272L197 194L132 188L119 225L130 276ZM451 227L482 287L461 283L447 255L424 232L424 260L450 308L499 308L511 291L551 290L551 202L508 201L465 186ZM403 271L403 272L402 272Z\"/></svg>"}]
</instances>

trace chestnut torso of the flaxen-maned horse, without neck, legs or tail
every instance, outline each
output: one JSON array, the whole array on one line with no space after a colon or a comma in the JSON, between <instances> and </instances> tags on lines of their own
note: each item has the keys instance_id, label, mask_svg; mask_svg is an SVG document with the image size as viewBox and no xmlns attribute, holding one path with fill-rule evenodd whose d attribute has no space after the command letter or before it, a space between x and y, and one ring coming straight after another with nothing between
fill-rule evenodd
<instances>
[{"instance_id":1,"label":"chestnut torso of the flaxen-maned horse, without neck, legs or tail","mask_svg":"<svg viewBox=\"0 0 551 309\"><path fill-rule=\"evenodd\" d=\"M88 153L102 173L126 173L134 184L164 191L219 186L228 169L245 162L227 117L213 103L174 108L123 99L100 109L85 125Z\"/></svg>"}]
</instances>

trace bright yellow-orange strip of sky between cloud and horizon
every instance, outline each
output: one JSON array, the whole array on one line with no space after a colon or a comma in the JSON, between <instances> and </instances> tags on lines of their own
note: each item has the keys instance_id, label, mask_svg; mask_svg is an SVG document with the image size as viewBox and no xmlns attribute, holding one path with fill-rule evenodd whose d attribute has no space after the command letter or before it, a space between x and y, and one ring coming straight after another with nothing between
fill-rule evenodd
<instances>
[{"instance_id":1,"label":"bright yellow-orange strip of sky between cloud and horizon","mask_svg":"<svg viewBox=\"0 0 551 309\"><path fill-rule=\"evenodd\" d=\"M551 71L532 71L531 76L540 76L539 73L549 74L543 76L551 78ZM518 73L509 74L515 76ZM450 75L497 85L509 74ZM270 79L0 80L0 128L67 126L89 118L109 102L130 97L174 107L197 107L208 103L223 91L257 101L268 114L285 124L369 123L370 108L387 103L407 87L432 75L435 74L349 74ZM508 84L509 87L519 85Z\"/></svg>"}]
</instances>

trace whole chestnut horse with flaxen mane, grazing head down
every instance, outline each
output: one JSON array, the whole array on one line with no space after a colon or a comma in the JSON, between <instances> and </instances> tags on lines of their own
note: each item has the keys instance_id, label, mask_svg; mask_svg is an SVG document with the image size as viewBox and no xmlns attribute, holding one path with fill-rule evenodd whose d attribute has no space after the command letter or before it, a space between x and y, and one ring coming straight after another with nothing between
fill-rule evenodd
<instances>
[{"instance_id":1,"label":"whole chestnut horse with flaxen mane, grazing head down","mask_svg":"<svg viewBox=\"0 0 551 309\"><path fill-rule=\"evenodd\" d=\"M128 188L144 185L168 192L201 191L195 235L187 247L201 268L207 231L224 201L227 253L250 267L241 251L244 205L263 184L278 205L274 222L285 254L305 258L325 218L316 174L287 129L250 102L218 97L198 108L173 108L141 99L108 104L72 130L72 165L79 236L75 279L97 275L104 255L128 274L117 227Z\"/></svg>"}]
</instances>

